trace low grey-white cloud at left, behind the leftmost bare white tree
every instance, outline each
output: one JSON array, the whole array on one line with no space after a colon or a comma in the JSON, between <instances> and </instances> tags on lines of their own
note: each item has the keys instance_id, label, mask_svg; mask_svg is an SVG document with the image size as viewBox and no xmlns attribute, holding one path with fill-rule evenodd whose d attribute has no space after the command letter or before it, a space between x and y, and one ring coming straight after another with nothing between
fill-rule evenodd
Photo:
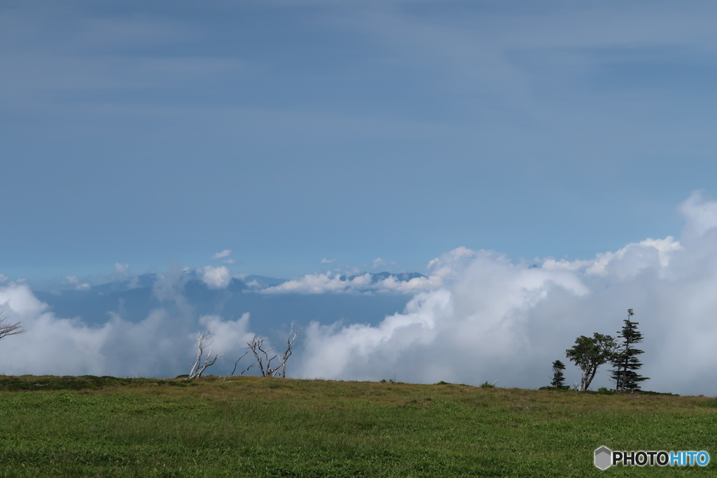
<instances>
[{"instance_id":1,"label":"low grey-white cloud at left, behind the leftmost bare white tree","mask_svg":"<svg viewBox=\"0 0 717 478\"><path fill-rule=\"evenodd\" d=\"M0 373L176 376L189 372L197 328L212 327L217 328L214 353L227 355L208 372L229 373L247 340L254 336L249 330L249 315L235 321L214 315L197 321L188 309L175 307L182 301L174 299L140 322L129 322L110 312L110 319L97 327L80 318L57 317L27 285L0 287L0 309L27 330L3 340Z\"/></svg>"}]
</instances>

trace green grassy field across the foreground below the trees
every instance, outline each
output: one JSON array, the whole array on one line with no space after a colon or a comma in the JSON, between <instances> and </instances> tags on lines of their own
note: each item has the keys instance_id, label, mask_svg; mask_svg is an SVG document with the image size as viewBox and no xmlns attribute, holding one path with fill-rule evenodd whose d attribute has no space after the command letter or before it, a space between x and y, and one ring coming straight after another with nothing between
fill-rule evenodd
<instances>
[{"instance_id":1,"label":"green grassy field across the foreground below the trees","mask_svg":"<svg viewBox=\"0 0 717 478\"><path fill-rule=\"evenodd\" d=\"M3 477L569 477L715 474L593 465L706 450L717 398L281 378L0 377Z\"/></svg>"}]
</instances>

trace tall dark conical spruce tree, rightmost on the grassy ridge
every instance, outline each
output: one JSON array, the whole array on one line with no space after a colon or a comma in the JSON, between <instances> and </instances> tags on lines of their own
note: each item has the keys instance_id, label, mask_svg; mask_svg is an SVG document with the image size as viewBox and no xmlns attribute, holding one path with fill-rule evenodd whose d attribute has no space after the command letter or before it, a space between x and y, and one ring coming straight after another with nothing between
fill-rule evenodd
<instances>
[{"instance_id":1,"label":"tall dark conical spruce tree, rightmost on the grassy ridge","mask_svg":"<svg viewBox=\"0 0 717 478\"><path fill-rule=\"evenodd\" d=\"M642 342L642 333L637 331L637 325L640 322L632 322L630 318L635 315L632 309L627 309L627 319L624 320L625 325L617 338L622 338L617 351L611 360L614 370L610 371L612 380L615 381L615 391L638 391L640 390L640 382L649 380L637 374L637 370L642 367L642 363L637 359L637 355L645 353L644 350L635 348L636 343Z\"/></svg>"}]
</instances>

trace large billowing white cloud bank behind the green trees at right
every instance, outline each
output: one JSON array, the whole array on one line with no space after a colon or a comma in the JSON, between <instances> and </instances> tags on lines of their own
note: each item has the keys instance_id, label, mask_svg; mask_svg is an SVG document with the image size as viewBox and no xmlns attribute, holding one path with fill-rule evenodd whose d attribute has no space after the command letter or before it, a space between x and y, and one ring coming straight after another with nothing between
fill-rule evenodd
<instances>
[{"instance_id":1,"label":"large billowing white cloud bank behind the green trees at right","mask_svg":"<svg viewBox=\"0 0 717 478\"><path fill-rule=\"evenodd\" d=\"M579 335L617 335L635 309L644 388L717 394L717 203L680 206L683 240L646 239L589 261L515 264L460 248L430 266L443 283L378 325L306 328L300 376L547 385ZM594 388L610 386L604 365ZM569 381L579 371L568 365Z\"/></svg>"}]
</instances>

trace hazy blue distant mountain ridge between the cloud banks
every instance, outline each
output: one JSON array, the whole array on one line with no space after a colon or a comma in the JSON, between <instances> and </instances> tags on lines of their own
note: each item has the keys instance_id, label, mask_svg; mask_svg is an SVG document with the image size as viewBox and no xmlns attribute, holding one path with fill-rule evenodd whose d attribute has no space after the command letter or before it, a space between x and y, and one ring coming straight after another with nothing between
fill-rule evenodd
<instances>
[{"instance_id":1,"label":"hazy blue distant mountain ridge between the cloud banks","mask_svg":"<svg viewBox=\"0 0 717 478\"><path fill-rule=\"evenodd\" d=\"M341 276L341 280L350 281L365 274ZM371 274L371 284L389 277L407 282L425 276L417 272L379 272ZM307 295L286 292L267 295L261 291L282 285L288 279L260 275L232 277L224 288L209 287L201 272L191 270L182 272L181 277L174 281L171 279L171 276L150 273L79 290L67 285L68 288L64 290L41 290L34 293L58 317L82 317L88 324L95 325L106 322L112 314L130 322L144 320L153 310L171 304L172 295L180 294L196 317L216 314L236 318L244 312L250 312L252 323L262 328L278 328L291 320L303 324L312 320L332 323L341 319L377 322L386 315L401 312L407 302L406 296L399 293L365 295L326 292ZM166 290L164 280L170 281L166 283ZM371 288L367 285L366 289Z\"/></svg>"}]
</instances>

